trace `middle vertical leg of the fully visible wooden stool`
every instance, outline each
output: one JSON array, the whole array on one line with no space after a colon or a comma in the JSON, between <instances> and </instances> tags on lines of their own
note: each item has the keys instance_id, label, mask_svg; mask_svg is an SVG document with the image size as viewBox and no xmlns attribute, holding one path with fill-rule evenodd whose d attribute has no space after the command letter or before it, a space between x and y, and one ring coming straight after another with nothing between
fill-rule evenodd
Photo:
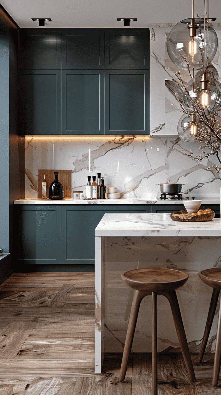
<instances>
[{"instance_id":1,"label":"middle vertical leg of the fully visible wooden stool","mask_svg":"<svg viewBox=\"0 0 221 395\"><path fill-rule=\"evenodd\" d=\"M152 393L157 395L157 315L156 296L152 292Z\"/></svg>"}]
</instances>

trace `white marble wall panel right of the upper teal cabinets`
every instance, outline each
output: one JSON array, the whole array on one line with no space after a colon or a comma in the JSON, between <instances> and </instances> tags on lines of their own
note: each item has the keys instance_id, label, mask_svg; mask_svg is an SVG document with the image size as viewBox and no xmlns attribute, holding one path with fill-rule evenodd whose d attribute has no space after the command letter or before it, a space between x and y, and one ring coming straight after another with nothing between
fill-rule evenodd
<instances>
[{"instance_id":1,"label":"white marble wall panel right of the upper teal cabinets","mask_svg":"<svg viewBox=\"0 0 221 395\"><path fill-rule=\"evenodd\" d=\"M180 71L184 81L190 80L188 71L179 69L167 53L167 36L173 25L150 25L150 134L153 135L177 135L177 124L183 112L170 81L176 71ZM221 24L214 24L214 28L218 36L218 49L213 64L221 77Z\"/></svg>"}]
</instances>

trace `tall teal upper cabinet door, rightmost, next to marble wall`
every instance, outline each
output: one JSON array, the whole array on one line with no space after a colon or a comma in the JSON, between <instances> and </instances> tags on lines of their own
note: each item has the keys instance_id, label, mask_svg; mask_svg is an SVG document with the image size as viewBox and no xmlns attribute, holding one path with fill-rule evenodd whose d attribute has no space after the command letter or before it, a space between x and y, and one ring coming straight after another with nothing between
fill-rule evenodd
<instances>
[{"instance_id":1,"label":"tall teal upper cabinet door, rightmost, next to marble wall","mask_svg":"<svg viewBox=\"0 0 221 395\"><path fill-rule=\"evenodd\" d=\"M105 71L105 134L149 134L149 70Z\"/></svg>"}]
</instances>

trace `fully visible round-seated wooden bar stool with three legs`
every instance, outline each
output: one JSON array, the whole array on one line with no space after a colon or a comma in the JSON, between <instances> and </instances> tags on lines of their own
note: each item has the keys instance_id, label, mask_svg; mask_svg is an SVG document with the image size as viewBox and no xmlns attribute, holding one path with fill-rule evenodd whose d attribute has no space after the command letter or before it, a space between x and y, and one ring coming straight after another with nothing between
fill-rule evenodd
<instances>
[{"instance_id":1,"label":"fully visible round-seated wooden bar stool with three legs","mask_svg":"<svg viewBox=\"0 0 221 395\"><path fill-rule=\"evenodd\" d=\"M130 288L134 289L134 297L126 333L126 341L124 345L119 380L123 381L126 376L126 368L131 352L141 300L147 295L152 295L152 393L153 395L157 395L156 299L157 295L164 295L169 300L171 305L173 320L189 378L191 381L195 381L193 364L189 353L188 342L186 340L182 316L180 314L180 308L175 291L177 288L180 288L183 284L185 284L189 275L180 270L147 268L127 271L122 274L121 277Z\"/></svg>"}]
</instances>

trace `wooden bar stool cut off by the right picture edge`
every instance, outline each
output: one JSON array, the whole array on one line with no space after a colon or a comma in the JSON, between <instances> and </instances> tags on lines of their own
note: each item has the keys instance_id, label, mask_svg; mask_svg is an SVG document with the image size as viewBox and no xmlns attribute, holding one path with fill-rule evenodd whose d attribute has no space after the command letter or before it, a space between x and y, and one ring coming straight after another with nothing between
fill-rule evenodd
<instances>
[{"instance_id":1,"label":"wooden bar stool cut off by the right picture edge","mask_svg":"<svg viewBox=\"0 0 221 395\"><path fill-rule=\"evenodd\" d=\"M208 342L210 330L212 327L215 310L218 303L219 293L221 291L221 268L217 267L213 269L203 270L199 273L199 276L206 285L213 288L210 308L206 321L206 327L204 330L201 349L199 353L199 363L201 363L206 349L206 344ZM217 334L215 341L214 371L213 371L213 381L212 381L214 387L216 387L219 382L220 363L221 363L221 301L219 305L219 317L218 317Z\"/></svg>"}]
</instances>

